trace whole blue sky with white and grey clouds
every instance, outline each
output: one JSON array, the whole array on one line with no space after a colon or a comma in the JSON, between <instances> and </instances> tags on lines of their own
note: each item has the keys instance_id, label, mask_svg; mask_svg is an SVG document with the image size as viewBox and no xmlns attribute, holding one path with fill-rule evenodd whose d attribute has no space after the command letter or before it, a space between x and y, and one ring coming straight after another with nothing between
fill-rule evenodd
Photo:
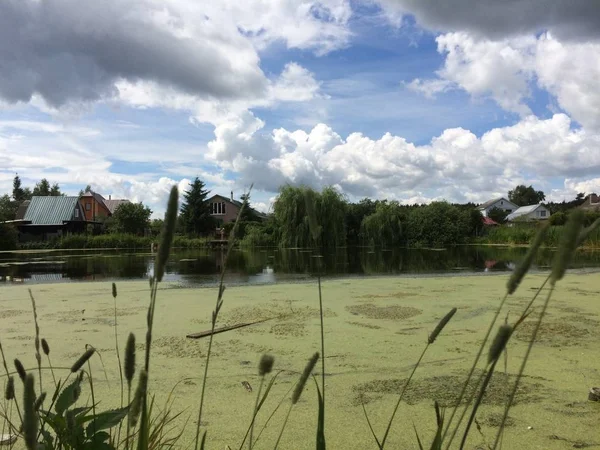
<instances>
[{"instance_id":1,"label":"whole blue sky with white and grey clouds","mask_svg":"<svg viewBox=\"0 0 600 450\"><path fill-rule=\"evenodd\" d=\"M195 177L262 211L600 192L600 0L3 0L15 173L154 217Z\"/></svg>"}]
</instances>

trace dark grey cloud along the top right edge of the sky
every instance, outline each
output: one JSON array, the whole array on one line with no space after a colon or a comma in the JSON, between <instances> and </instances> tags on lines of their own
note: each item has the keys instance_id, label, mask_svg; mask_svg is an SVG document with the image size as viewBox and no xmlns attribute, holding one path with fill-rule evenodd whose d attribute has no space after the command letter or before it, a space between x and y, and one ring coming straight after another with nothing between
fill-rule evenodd
<instances>
[{"instance_id":1,"label":"dark grey cloud along the top right edge of the sky","mask_svg":"<svg viewBox=\"0 0 600 450\"><path fill-rule=\"evenodd\" d=\"M492 39L551 31L561 39L599 39L599 0L376 0L391 14L413 14L433 31Z\"/></svg>"}]
</instances>

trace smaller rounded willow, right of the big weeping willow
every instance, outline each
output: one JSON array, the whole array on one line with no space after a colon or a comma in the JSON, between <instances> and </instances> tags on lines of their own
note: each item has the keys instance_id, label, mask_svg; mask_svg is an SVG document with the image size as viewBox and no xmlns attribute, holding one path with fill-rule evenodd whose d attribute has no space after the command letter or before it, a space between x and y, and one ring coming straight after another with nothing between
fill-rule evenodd
<instances>
[{"instance_id":1,"label":"smaller rounded willow, right of the big weeping willow","mask_svg":"<svg viewBox=\"0 0 600 450\"><path fill-rule=\"evenodd\" d=\"M375 212L362 221L361 234L364 242L381 247L398 247L406 242L403 224L405 209L396 201L378 202Z\"/></svg>"}]
</instances>

